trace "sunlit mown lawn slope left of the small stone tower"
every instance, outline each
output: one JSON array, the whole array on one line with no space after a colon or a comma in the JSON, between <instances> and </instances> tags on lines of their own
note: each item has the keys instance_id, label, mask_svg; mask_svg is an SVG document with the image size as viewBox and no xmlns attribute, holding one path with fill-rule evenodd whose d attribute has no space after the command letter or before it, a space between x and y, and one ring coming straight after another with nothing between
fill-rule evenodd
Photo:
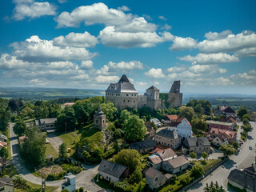
<instances>
[{"instance_id":1,"label":"sunlit mown lawn slope left of the small stone tower","mask_svg":"<svg viewBox=\"0 0 256 192\"><path fill-rule=\"evenodd\" d=\"M67 148L71 148L70 155L72 155L74 154L74 146L80 141L81 135L82 134L78 133L78 130L76 130L66 134L58 134L58 137L62 139L62 142L66 144Z\"/></svg>"}]
</instances>

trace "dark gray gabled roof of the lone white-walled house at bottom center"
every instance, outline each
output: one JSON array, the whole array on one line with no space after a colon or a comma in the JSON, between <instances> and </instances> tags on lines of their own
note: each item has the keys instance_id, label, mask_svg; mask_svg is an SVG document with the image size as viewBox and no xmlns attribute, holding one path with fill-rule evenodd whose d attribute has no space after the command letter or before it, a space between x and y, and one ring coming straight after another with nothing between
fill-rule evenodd
<instances>
[{"instance_id":1,"label":"dark gray gabled roof of the lone white-walled house at bottom center","mask_svg":"<svg viewBox=\"0 0 256 192\"><path fill-rule=\"evenodd\" d=\"M103 173L110 174L115 178L120 178L126 169L126 166L119 165L115 162L109 162L106 159L102 159L101 164L98 166L98 170Z\"/></svg>"}]
</instances>

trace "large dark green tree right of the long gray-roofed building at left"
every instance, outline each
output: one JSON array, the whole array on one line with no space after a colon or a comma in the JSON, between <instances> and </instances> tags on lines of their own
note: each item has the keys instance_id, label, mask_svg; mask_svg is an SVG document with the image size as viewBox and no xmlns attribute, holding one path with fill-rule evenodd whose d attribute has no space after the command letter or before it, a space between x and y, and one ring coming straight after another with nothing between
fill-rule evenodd
<instances>
[{"instance_id":1,"label":"large dark green tree right of the long gray-roofed building at left","mask_svg":"<svg viewBox=\"0 0 256 192\"><path fill-rule=\"evenodd\" d=\"M74 109L71 107L65 107L62 114L58 115L55 127L58 131L73 130L75 126L75 114Z\"/></svg>"}]
</instances>

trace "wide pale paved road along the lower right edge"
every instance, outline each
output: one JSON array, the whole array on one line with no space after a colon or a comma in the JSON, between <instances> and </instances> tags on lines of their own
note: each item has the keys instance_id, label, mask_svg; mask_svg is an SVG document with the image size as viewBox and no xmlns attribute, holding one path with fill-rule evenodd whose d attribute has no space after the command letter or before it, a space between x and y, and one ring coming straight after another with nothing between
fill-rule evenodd
<instances>
[{"instance_id":1,"label":"wide pale paved road along the lower right edge","mask_svg":"<svg viewBox=\"0 0 256 192\"><path fill-rule=\"evenodd\" d=\"M203 191L203 188L206 186L206 183L218 182L219 185L224 186L226 190L233 192L227 187L227 177L230 174L231 170L234 170L237 166L238 169L244 169L247 166L250 166L251 162L255 161L255 140L256 139L256 122L251 122L251 125L254 127L254 130L249 133L247 141L241 147L239 154L234 154L230 157L230 160L227 160L223 166L218 167L217 170L204 178L201 182L198 182L192 186L189 190L186 191ZM249 150L249 146L253 146L253 150ZM227 189L228 188L228 189Z\"/></svg>"}]
</instances>

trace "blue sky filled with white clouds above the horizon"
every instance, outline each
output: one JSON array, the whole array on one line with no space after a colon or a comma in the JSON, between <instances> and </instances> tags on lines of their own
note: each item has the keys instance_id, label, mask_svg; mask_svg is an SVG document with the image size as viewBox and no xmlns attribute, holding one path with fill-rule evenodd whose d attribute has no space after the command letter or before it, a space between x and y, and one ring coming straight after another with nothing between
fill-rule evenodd
<instances>
[{"instance_id":1,"label":"blue sky filled with white clouds above the horizon","mask_svg":"<svg viewBox=\"0 0 256 192\"><path fill-rule=\"evenodd\" d=\"M256 1L1 0L0 86L256 94Z\"/></svg>"}]
</instances>

